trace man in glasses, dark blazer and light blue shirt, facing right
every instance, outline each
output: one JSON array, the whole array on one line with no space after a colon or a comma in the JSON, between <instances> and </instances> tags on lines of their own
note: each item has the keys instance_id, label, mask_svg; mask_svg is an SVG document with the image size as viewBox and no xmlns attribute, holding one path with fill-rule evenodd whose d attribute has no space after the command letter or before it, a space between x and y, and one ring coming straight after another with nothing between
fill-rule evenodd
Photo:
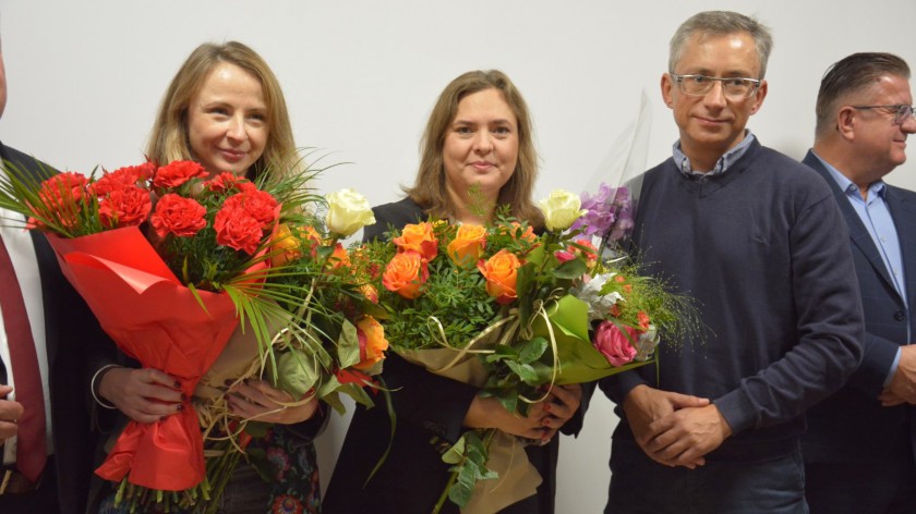
<instances>
[{"instance_id":1,"label":"man in glasses, dark blazer and light blue shirt, facing right","mask_svg":"<svg viewBox=\"0 0 916 514\"><path fill-rule=\"evenodd\" d=\"M808 414L816 514L916 512L916 193L882 181L906 160L912 103L909 66L890 53L846 57L818 93L804 162L830 184L848 225L866 334L858 371Z\"/></svg>"}]
</instances>

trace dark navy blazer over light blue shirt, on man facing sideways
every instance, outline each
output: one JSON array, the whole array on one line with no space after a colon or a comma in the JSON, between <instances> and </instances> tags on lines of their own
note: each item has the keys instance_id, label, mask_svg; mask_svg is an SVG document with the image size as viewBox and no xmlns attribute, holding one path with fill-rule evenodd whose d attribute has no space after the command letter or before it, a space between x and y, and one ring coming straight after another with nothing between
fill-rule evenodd
<instances>
[{"instance_id":1,"label":"dark navy blazer over light blue shirt, on man facing sideways","mask_svg":"<svg viewBox=\"0 0 916 514\"><path fill-rule=\"evenodd\" d=\"M803 437L805 461L848 463L913 458L911 449L916 446L909 427L916 407L882 407L877 397L896 351L912 341L907 341L907 328L911 338L916 338L916 193L885 185L885 199L896 225L906 277L908 298L904 303L891 282L878 247L830 172L810 151L803 162L830 184L849 228L849 246L866 325L865 356L858 371L836 394L808 411L809 427Z\"/></svg>"}]
</instances>

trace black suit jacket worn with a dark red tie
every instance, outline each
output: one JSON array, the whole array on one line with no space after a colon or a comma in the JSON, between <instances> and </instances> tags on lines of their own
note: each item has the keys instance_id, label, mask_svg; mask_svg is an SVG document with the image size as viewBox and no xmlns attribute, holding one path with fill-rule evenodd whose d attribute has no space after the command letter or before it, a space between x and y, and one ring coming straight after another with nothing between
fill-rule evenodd
<instances>
[{"instance_id":1,"label":"black suit jacket worn with a dark red tie","mask_svg":"<svg viewBox=\"0 0 916 514\"><path fill-rule=\"evenodd\" d=\"M39 176L55 171L39 167L34 158L0 143L0 157ZM92 399L88 355L113 348L95 316L83 298L60 272L57 257L44 234L32 232L38 270L41 277L41 297L45 305L45 333L48 352L51 423L53 428L53 463L56 476L44 476L39 492L57 480L60 512L83 513L93 473L95 438L91 431ZM5 382L5 369L0 367L0 383ZM15 501L9 497L7 501ZM3 503L0 503L3 504Z\"/></svg>"}]
</instances>

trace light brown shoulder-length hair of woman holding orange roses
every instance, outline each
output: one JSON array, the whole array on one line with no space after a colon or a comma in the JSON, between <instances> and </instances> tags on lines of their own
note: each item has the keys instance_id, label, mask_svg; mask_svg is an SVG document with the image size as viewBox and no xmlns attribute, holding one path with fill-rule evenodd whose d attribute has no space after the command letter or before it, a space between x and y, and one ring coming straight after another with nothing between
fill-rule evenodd
<instances>
[{"instance_id":1,"label":"light brown shoulder-length hair of woman holding orange roses","mask_svg":"<svg viewBox=\"0 0 916 514\"><path fill-rule=\"evenodd\" d=\"M403 187L403 191L429 215L448 218L457 213L457 207L446 188L442 157L445 137L455 121L461 99L486 89L496 89L502 94L518 122L518 162L513 176L499 189L497 205L509 206L513 216L541 228L544 216L531 198L538 178L538 152L532 137L531 117L519 90L498 70L468 72L445 87L433 107L420 142L420 169L415 182L412 187Z\"/></svg>"}]
</instances>

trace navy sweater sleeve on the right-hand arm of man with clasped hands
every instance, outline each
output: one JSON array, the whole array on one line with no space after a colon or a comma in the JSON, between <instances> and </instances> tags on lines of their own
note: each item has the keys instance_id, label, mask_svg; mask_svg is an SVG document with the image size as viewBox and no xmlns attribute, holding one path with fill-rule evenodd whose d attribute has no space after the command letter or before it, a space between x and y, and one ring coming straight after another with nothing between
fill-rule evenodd
<instances>
[{"instance_id":1,"label":"navy sweater sleeve on the right-hand arm of man with clasped hands","mask_svg":"<svg viewBox=\"0 0 916 514\"><path fill-rule=\"evenodd\" d=\"M863 358L861 303L847 230L825 186L808 194L816 198L788 227L792 276L786 279L799 340L782 358L714 400L735 433L801 415L840 389Z\"/></svg>"}]
</instances>

